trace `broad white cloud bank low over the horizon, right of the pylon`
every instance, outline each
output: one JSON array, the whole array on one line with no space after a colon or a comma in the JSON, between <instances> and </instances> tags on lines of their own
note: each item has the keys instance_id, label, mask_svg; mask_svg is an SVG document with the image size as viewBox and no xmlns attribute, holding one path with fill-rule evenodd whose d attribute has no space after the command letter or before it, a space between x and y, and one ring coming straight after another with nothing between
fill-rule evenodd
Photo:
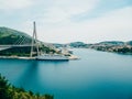
<instances>
[{"instance_id":1,"label":"broad white cloud bank low over the horizon, right of the pylon","mask_svg":"<svg viewBox=\"0 0 132 99\"><path fill-rule=\"evenodd\" d=\"M86 20L79 23L63 21L55 25L43 25L38 36L47 42L100 42L108 40L132 40L132 7L107 12L100 18ZM45 28L44 28L45 26ZM43 35L43 36L42 36Z\"/></svg>"}]
</instances>

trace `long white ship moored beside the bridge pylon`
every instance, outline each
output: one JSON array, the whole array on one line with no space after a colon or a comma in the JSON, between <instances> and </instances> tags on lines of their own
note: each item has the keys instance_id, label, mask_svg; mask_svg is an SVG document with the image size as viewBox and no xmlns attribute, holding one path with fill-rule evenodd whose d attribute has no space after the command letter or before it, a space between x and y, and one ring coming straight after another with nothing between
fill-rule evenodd
<instances>
[{"instance_id":1,"label":"long white ship moored beside the bridge pylon","mask_svg":"<svg viewBox=\"0 0 132 99\"><path fill-rule=\"evenodd\" d=\"M36 59L40 61L69 61L69 58L65 55L61 54L42 54L36 56Z\"/></svg>"}]
</instances>

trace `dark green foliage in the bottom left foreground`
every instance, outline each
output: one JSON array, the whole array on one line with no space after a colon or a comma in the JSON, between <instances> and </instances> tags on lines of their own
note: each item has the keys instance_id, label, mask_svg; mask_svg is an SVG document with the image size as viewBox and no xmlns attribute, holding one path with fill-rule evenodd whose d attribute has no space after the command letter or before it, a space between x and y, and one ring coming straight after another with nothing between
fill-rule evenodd
<instances>
[{"instance_id":1,"label":"dark green foliage in the bottom left foreground","mask_svg":"<svg viewBox=\"0 0 132 99\"><path fill-rule=\"evenodd\" d=\"M0 75L0 99L53 99L53 96L41 96L40 94L25 91L23 88L16 88Z\"/></svg>"}]
</instances>

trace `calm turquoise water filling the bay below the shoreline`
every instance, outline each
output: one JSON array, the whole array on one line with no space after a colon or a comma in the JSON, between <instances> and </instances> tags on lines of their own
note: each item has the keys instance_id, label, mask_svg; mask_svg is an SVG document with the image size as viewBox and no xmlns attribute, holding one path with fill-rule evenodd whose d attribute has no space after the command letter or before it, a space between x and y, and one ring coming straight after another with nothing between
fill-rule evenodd
<instances>
[{"instance_id":1,"label":"calm turquoise water filling the bay below the shoreline","mask_svg":"<svg viewBox=\"0 0 132 99\"><path fill-rule=\"evenodd\" d=\"M75 50L81 59L0 59L0 73L18 87L55 99L132 99L132 56Z\"/></svg>"}]
</instances>

